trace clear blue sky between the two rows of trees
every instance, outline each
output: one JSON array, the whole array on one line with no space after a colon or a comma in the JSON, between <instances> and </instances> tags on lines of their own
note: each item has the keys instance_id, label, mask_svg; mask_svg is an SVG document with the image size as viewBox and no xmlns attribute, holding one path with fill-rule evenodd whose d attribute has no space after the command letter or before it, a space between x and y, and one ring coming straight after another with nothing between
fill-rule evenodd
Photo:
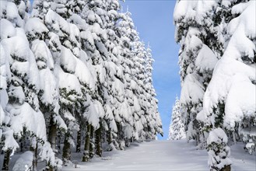
<instances>
[{"instance_id":1,"label":"clear blue sky between the two rows of trees","mask_svg":"<svg viewBox=\"0 0 256 171\"><path fill-rule=\"evenodd\" d=\"M121 3L123 11L132 13L141 39L152 49L153 86L159 100L159 111L163 123L164 136L167 139L170 114L175 97L180 96L181 83L178 61L179 46L174 40L173 13L175 0L126 0Z\"/></svg>"}]
</instances>

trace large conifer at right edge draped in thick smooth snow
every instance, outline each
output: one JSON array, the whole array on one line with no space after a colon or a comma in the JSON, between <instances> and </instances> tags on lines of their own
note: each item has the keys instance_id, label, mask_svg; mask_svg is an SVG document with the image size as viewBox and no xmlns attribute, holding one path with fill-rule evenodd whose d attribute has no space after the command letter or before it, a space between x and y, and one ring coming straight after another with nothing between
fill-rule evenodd
<instances>
[{"instance_id":1,"label":"large conifer at right edge draped in thick smooth snow","mask_svg":"<svg viewBox=\"0 0 256 171\"><path fill-rule=\"evenodd\" d=\"M204 96L205 124L225 127L233 141L238 132L249 152L255 146L255 5L233 5L237 17L228 26L231 37Z\"/></svg>"}]
</instances>

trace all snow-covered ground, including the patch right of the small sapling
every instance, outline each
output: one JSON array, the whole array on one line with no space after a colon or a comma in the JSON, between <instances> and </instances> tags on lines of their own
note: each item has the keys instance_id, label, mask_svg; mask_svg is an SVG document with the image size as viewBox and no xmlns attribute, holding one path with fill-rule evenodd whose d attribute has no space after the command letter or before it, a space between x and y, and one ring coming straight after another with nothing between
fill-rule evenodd
<instances>
[{"instance_id":1,"label":"all snow-covered ground, including the patch right of the small sapling","mask_svg":"<svg viewBox=\"0 0 256 171\"><path fill-rule=\"evenodd\" d=\"M232 170L256 170L256 155L244 152L242 144L231 147L231 159ZM102 158L62 170L209 170L207 161L206 150L198 150L194 142L149 141L132 143L124 151L103 152Z\"/></svg>"}]
</instances>

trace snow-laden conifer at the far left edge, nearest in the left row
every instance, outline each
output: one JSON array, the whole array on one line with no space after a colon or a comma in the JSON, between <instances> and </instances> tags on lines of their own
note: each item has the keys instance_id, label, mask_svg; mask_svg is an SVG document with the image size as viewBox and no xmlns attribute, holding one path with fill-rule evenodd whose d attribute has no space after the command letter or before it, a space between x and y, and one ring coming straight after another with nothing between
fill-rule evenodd
<instances>
[{"instance_id":1,"label":"snow-laden conifer at the far left edge, nearest in the left row","mask_svg":"<svg viewBox=\"0 0 256 171\"><path fill-rule=\"evenodd\" d=\"M47 134L44 116L40 111L37 97L40 91L40 78L37 63L30 50L30 43L25 34L26 2L1 2L1 44L5 50L5 65L9 65L7 79L8 104L5 106L5 120L3 120L4 138L3 150L5 161L2 169L9 168L9 157L19 145L14 138L19 139L28 134L30 150L33 152L33 169L37 166L37 156L54 164L51 147L47 146ZM5 67L6 69L6 67ZM9 74L8 74L9 73ZM4 106L5 100L2 103ZM15 136L14 136L15 135ZM22 145L22 144L21 144ZM21 146L23 147L23 146ZM44 150L47 153L42 154ZM39 153L37 153L39 151Z\"/></svg>"}]
</instances>

